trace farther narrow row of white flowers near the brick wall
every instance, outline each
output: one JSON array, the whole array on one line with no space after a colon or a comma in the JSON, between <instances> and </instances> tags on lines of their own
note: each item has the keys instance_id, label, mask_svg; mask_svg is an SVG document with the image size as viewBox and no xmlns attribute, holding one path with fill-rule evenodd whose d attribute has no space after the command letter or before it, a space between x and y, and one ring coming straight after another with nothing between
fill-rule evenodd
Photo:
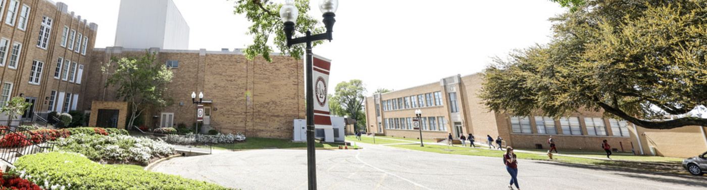
<instances>
[{"instance_id":1,"label":"farther narrow row of white flowers near the brick wall","mask_svg":"<svg viewBox=\"0 0 707 190\"><path fill-rule=\"evenodd\" d=\"M196 135L189 133L185 136L179 135L167 135L165 141L168 143L178 144L178 145L189 145L193 143L234 143L235 141L245 141L245 135L243 133L223 134L218 133L216 135Z\"/></svg>"}]
</instances>

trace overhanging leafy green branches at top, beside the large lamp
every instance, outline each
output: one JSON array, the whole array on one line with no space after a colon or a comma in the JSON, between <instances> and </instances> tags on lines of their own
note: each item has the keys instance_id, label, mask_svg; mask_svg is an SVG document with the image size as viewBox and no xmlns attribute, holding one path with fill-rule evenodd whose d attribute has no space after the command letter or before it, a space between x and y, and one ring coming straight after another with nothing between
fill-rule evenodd
<instances>
[{"instance_id":1,"label":"overhanging leafy green branches at top, beside the large lamp","mask_svg":"<svg viewBox=\"0 0 707 190\"><path fill-rule=\"evenodd\" d=\"M293 45L287 47L287 37L283 32L284 25L280 20L280 8L283 4L273 3L273 0L235 0L234 14L244 14L252 25L248 28L247 35L253 35L253 44L248 45L243 50L247 59L253 59L257 55L272 62L270 54L274 52L273 48L268 44L271 35L273 44L280 49L283 54L288 54L295 59L301 59L305 52L304 44ZM319 20L315 20L308 15L310 10L309 0L295 0L295 6L299 10L299 16L295 23L295 32L293 38L303 36L303 32L312 31L313 34L325 32L322 25L317 25ZM312 47L317 44L322 44L324 41L312 42Z\"/></svg>"}]
</instances>

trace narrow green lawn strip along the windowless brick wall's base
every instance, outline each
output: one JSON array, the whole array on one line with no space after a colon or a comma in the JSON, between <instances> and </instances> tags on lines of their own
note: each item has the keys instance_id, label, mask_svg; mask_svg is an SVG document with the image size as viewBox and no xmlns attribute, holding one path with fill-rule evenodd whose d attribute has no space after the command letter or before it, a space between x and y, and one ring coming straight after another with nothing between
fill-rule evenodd
<instances>
[{"instance_id":1,"label":"narrow green lawn strip along the windowless brick wall's base","mask_svg":"<svg viewBox=\"0 0 707 190\"><path fill-rule=\"evenodd\" d=\"M248 137L243 143L220 144L211 146L219 150L234 150L234 149L267 149L267 148L307 148L307 143L293 143L288 139L280 138L258 138ZM339 147L338 145L328 143L316 143L317 148Z\"/></svg>"}]
</instances>

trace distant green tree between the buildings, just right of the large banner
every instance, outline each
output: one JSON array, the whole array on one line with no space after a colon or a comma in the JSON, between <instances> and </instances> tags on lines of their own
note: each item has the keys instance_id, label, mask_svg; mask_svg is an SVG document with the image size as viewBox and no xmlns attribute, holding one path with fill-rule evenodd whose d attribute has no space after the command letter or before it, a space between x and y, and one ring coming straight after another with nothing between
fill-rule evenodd
<instances>
[{"instance_id":1,"label":"distant green tree between the buildings, just right of the large banner","mask_svg":"<svg viewBox=\"0 0 707 190\"><path fill-rule=\"evenodd\" d=\"M332 100L335 104L340 105L344 115L348 115L351 119L356 119L356 129L358 124L366 126L366 114L363 113L363 100L366 98L363 94L366 93L366 88L363 87L361 80L351 80L349 82L341 82L334 88L336 92ZM332 102L329 102L329 107L332 107ZM332 109L332 111L335 109Z\"/></svg>"}]
</instances>

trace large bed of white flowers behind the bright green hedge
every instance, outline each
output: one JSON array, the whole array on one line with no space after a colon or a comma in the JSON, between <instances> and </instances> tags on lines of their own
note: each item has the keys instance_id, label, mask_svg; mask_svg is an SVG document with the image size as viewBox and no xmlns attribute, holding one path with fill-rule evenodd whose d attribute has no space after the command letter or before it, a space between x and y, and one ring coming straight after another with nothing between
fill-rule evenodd
<instances>
[{"instance_id":1,"label":"large bed of white flowers behind the bright green hedge","mask_svg":"<svg viewBox=\"0 0 707 190\"><path fill-rule=\"evenodd\" d=\"M151 158L174 153L164 141L126 135L89 136L83 133L59 138L57 149L81 153L90 160L133 160L148 164Z\"/></svg>"}]
</instances>

